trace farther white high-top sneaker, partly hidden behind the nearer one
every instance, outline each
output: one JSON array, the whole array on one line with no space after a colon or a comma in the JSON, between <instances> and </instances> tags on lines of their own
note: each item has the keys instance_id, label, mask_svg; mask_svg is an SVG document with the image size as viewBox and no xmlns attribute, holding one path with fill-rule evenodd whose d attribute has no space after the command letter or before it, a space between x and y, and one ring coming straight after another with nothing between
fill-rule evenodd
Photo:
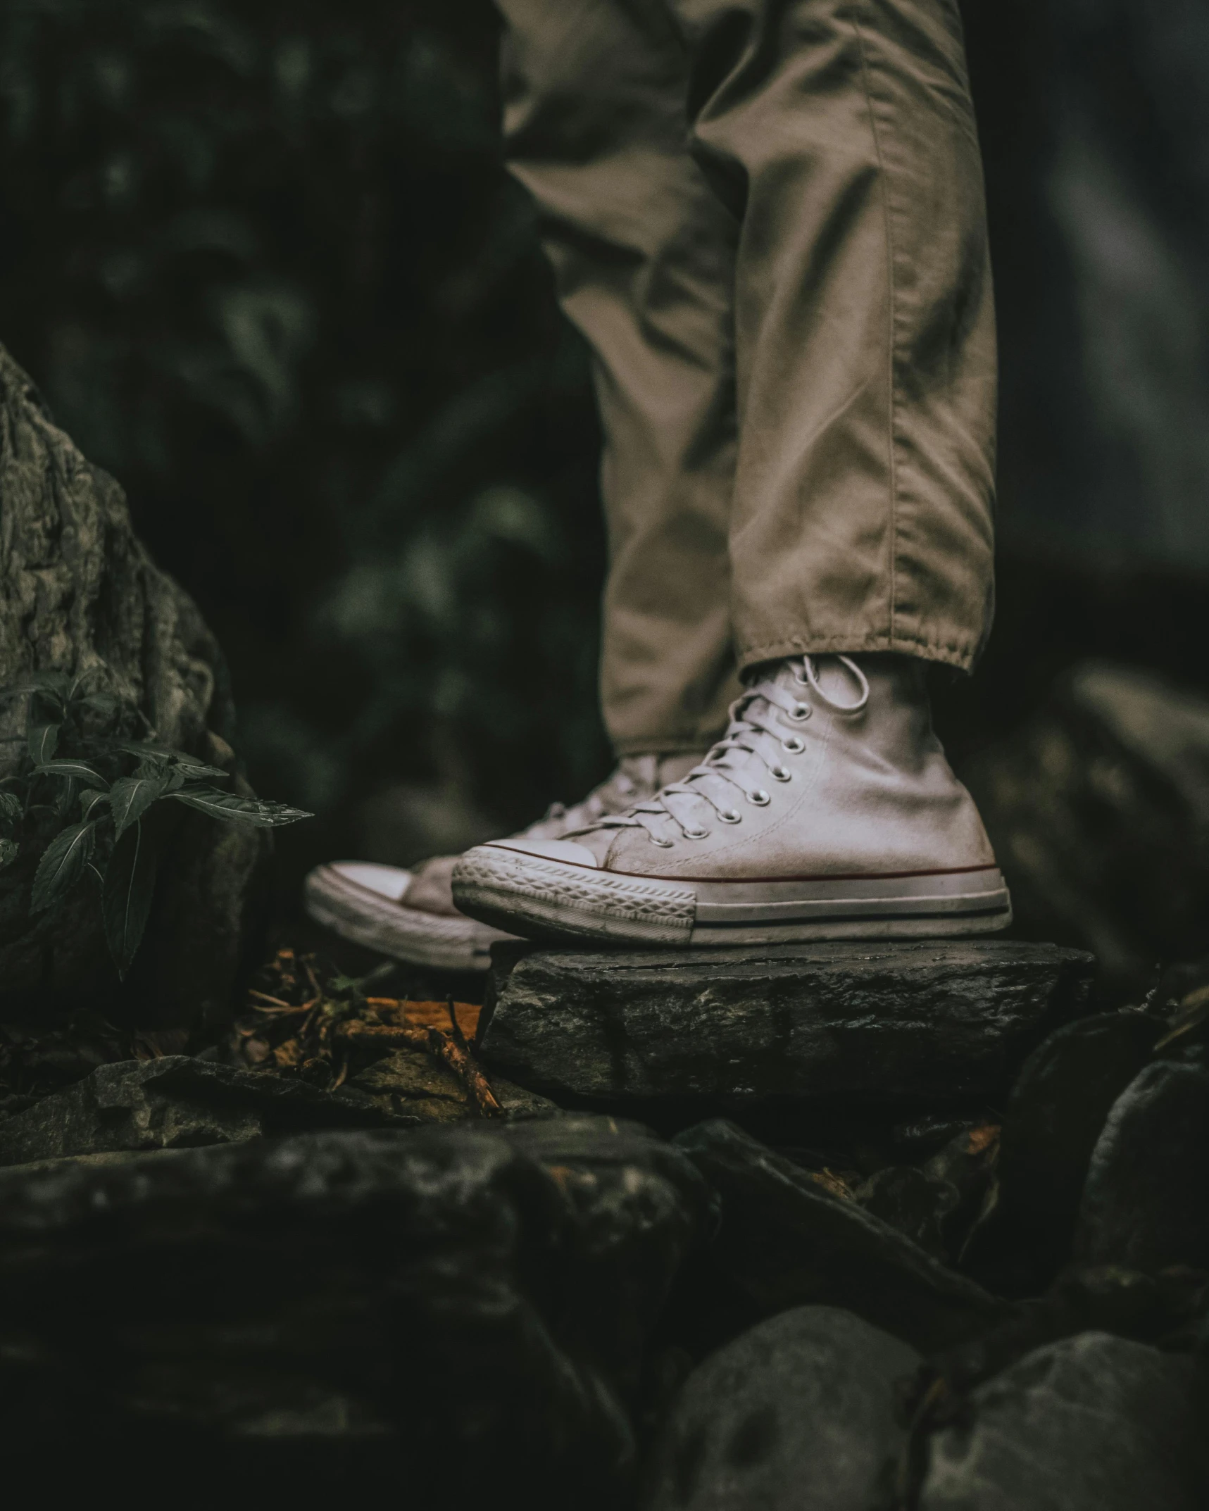
<instances>
[{"instance_id":1,"label":"farther white high-top sneaker, partly hidden behind the nearer one","mask_svg":"<svg viewBox=\"0 0 1209 1511\"><path fill-rule=\"evenodd\" d=\"M556 840L633 802L653 798L683 777L698 756L623 756L617 771L583 802L556 802L544 819L515 836L517 843ZM414 966L487 970L493 940L512 938L465 917L453 904L449 879L456 855L435 855L414 870L373 861L339 860L307 876L307 913L343 938Z\"/></svg>"}]
</instances>

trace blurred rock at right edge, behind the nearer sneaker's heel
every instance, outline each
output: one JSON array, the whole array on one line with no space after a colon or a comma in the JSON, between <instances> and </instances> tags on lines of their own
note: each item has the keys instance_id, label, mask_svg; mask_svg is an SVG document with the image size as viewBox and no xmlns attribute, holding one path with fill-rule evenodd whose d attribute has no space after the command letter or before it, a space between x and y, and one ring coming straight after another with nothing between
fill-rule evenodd
<instances>
[{"instance_id":1,"label":"blurred rock at right edge, behind the nearer sneaker's heel","mask_svg":"<svg viewBox=\"0 0 1209 1511\"><path fill-rule=\"evenodd\" d=\"M1117 1000L1198 955L1209 914L1209 700L1085 662L963 769L1028 934L1093 950Z\"/></svg>"}]
</instances>

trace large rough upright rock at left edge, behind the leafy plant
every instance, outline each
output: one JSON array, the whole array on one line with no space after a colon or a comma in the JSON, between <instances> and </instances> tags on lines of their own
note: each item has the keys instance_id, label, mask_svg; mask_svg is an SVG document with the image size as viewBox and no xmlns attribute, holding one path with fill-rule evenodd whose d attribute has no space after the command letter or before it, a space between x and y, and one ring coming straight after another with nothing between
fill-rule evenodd
<instances>
[{"instance_id":1,"label":"large rough upright rock at left edge, behind the leafy plant","mask_svg":"<svg viewBox=\"0 0 1209 1511\"><path fill-rule=\"evenodd\" d=\"M136 539L125 497L50 419L0 348L0 668L92 672L157 737L227 769L234 706L222 653L196 606ZM0 775L24 743L26 698L0 706ZM160 863L147 941L121 996L145 1026L221 1021L261 926L267 839L199 813L178 816ZM107 1006L119 996L95 895L53 925L29 917L27 885L0 895L0 982L9 1011Z\"/></svg>"}]
</instances>

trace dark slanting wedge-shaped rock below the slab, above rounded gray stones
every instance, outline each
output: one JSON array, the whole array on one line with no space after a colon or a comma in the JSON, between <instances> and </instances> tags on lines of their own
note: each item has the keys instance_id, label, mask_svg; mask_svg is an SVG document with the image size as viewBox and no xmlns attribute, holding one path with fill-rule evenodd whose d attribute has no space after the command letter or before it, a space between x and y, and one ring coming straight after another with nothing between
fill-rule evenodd
<instances>
[{"instance_id":1,"label":"dark slanting wedge-shaped rock below the slab, above rounded gray stones","mask_svg":"<svg viewBox=\"0 0 1209 1511\"><path fill-rule=\"evenodd\" d=\"M757 1312L846 1307L925 1352L1006 1315L1005 1302L731 1123L698 1124L676 1144L721 1198L709 1260Z\"/></svg>"}]
</instances>

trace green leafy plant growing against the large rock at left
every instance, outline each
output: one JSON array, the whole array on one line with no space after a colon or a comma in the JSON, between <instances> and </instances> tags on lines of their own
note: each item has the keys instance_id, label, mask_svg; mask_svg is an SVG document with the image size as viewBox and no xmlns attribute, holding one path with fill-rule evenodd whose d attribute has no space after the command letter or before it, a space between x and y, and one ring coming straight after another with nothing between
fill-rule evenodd
<instances>
[{"instance_id":1,"label":"green leafy plant growing against the large rock at left","mask_svg":"<svg viewBox=\"0 0 1209 1511\"><path fill-rule=\"evenodd\" d=\"M29 911L53 916L91 879L124 978L172 834L168 804L257 828L311 814L233 792L230 772L157 743L138 709L88 683L39 672L0 691L3 701L29 697L26 751L0 780L0 881L27 885Z\"/></svg>"}]
</instances>

